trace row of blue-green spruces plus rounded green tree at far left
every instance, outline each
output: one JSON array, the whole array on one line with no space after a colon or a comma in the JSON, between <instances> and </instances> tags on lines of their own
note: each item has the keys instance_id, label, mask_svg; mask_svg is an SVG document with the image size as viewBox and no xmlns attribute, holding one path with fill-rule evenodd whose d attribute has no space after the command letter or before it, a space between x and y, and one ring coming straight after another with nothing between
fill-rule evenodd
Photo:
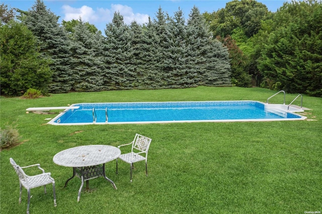
<instances>
[{"instance_id":1,"label":"row of blue-green spruces plus rounded green tree at far left","mask_svg":"<svg viewBox=\"0 0 322 214\"><path fill-rule=\"evenodd\" d=\"M40 0L18 18L1 26L6 95L231 84L228 50L196 7L187 24L181 10L169 17L159 8L143 26L115 13L105 37L81 19L60 25Z\"/></svg>"}]
</instances>

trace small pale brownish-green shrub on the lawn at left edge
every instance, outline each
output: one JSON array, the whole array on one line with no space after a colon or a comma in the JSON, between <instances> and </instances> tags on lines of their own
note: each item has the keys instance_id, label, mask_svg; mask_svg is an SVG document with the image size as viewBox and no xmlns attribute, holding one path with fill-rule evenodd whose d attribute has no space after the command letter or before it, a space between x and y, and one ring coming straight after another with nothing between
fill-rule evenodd
<instances>
[{"instance_id":1,"label":"small pale brownish-green shrub on the lawn at left edge","mask_svg":"<svg viewBox=\"0 0 322 214\"><path fill-rule=\"evenodd\" d=\"M6 129L0 130L0 149L15 145L19 143L19 140L18 130L12 126L7 126Z\"/></svg>"}]
</instances>

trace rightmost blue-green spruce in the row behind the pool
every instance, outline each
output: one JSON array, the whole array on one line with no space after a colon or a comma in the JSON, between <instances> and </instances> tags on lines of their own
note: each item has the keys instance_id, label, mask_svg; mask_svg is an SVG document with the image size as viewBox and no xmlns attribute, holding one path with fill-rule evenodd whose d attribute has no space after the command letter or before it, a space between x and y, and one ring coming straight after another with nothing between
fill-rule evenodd
<instances>
[{"instance_id":1,"label":"rightmost blue-green spruce in the row behind the pool","mask_svg":"<svg viewBox=\"0 0 322 214\"><path fill-rule=\"evenodd\" d=\"M230 64L228 50L222 43L211 39L199 9L194 7L188 20L189 58L198 71L199 84L230 86Z\"/></svg>"}]
</instances>

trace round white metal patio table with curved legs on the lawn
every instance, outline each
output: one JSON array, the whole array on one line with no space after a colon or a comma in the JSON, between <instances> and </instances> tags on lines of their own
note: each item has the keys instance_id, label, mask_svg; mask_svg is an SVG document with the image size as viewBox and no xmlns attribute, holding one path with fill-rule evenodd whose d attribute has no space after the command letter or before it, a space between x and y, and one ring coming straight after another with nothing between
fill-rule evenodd
<instances>
[{"instance_id":1,"label":"round white metal patio table with curved legs on the lawn","mask_svg":"<svg viewBox=\"0 0 322 214\"><path fill-rule=\"evenodd\" d=\"M68 178L65 183L75 177L75 175L82 180L81 187L78 191L77 202L81 197L81 191L86 181L86 190L89 190L89 180L97 177L104 177L110 181L114 189L116 186L114 182L105 175L105 163L115 160L121 155L121 150L114 146L107 145L88 145L78 146L63 150L53 157L53 162L60 166L67 166L73 168L73 175Z\"/></svg>"}]
</instances>

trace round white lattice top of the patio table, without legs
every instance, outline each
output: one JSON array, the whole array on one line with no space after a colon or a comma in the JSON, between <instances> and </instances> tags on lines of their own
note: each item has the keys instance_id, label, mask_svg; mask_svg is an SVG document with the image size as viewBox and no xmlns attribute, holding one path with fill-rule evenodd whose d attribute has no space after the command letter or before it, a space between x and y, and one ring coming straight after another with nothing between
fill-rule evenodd
<instances>
[{"instance_id":1,"label":"round white lattice top of the patio table, without legs","mask_svg":"<svg viewBox=\"0 0 322 214\"><path fill-rule=\"evenodd\" d=\"M60 166L84 167L107 163L115 160L120 155L121 150L114 146L88 145L58 152L53 157L53 161Z\"/></svg>"}]
</instances>

